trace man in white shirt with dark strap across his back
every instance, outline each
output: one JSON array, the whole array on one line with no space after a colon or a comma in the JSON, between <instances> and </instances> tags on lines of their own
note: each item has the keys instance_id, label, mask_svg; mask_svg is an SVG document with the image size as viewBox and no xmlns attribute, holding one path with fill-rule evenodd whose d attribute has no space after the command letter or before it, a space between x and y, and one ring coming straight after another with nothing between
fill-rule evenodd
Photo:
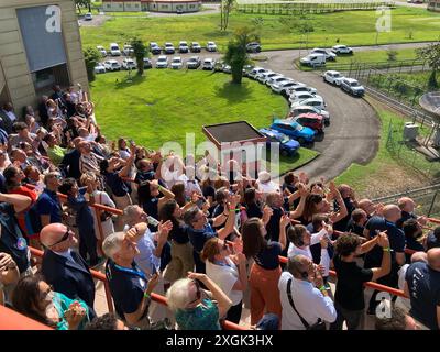
<instances>
[{"instance_id":1,"label":"man in white shirt with dark strap across his back","mask_svg":"<svg viewBox=\"0 0 440 352\"><path fill-rule=\"evenodd\" d=\"M307 256L296 255L289 258L287 272L282 274L278 288L283 307L282 330L307 330L298 314L309 327L319 319L327 322L337 319L337 310L328 297L322 276L317 265Z\"/></svg>"}]
</instances>

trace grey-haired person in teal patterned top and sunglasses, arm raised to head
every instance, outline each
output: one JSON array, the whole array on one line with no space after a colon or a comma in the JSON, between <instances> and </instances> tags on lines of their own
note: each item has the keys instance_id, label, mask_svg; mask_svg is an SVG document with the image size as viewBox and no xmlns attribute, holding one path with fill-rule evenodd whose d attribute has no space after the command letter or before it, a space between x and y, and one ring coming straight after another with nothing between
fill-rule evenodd
<instances>
[{"instance_id":1,"label":"grey-haired person in teal patterned top and sunglasses, arm raised to head","mask_svg":"<svg viewBox=\"0 0 440 352\"><path fill-rule=\"evenodd\" d=\"M199 282L211 292L212 299L207 297ZM212 279L206 274L193 272L187 278L175 282L166 298L180 330L220 330L219 319L232 306L232 300Z\"/></svg>"}]
</instances>

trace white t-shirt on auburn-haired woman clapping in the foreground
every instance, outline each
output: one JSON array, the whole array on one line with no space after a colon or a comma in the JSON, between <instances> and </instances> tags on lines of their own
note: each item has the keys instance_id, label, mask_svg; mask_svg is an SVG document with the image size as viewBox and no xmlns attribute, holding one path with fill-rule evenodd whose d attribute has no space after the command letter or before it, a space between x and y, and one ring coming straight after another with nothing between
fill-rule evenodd
<instances>
[{"instance_id":1,"label":"white t-shirt on auburn-haired woman clapping in the foreground","mask_svg":"<svg viewBox=\"0 0 440 352\"><path fill-rule=\"evenodd\" d=\"M232 289L239 279L239 270L229 257L226 260L229 265L218 265L207 261L206 272L208 277L220 286L223 293L231 298L232 305L235 306L243 299L243 292Z\"/></svg>"}]
</instances>

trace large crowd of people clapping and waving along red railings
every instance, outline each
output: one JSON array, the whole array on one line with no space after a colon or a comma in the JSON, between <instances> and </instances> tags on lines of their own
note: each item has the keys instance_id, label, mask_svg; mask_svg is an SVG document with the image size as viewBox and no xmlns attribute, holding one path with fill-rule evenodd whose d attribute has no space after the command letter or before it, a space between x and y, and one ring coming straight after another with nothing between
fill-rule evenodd
<instances>
[{"instance_id":1,"label":"large crowd of people clapping and waving along red railings","mask_svg":"<svg viewBox=\"0 0 440 352\"><path fill-rule=\"evenodd\" d=\"M253 176L209 152L108 142L80 87L55 86L20 117L6 103L0 304L58 330L219 330L243 324L244 307L250 329L360 330L365 315L381 330L440 328L440 227L413 199L374 204L305 173ZM114 314L97 315L91 268ZM408 298L366 301L372 280Z\"/></svg>"}]
</instances>

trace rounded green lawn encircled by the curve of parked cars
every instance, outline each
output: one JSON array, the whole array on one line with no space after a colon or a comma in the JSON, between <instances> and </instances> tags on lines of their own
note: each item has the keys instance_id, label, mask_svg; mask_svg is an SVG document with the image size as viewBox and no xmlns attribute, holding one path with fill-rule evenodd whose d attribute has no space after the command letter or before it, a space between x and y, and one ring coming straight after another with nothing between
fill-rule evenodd
<instances>
[{"instance_id":1,"label":"rounded green lawn encircled by the curve of parked cars","mask_svg":"<svg viewBox=\"0 0 440 352\"><path fill-rule=\"evenodd\" d=\"M286 100L265 86L246 78L231 85L223 73L153 69L131 84L127 75L99 75L91 84L98 123L109 140L123 135L150 148L172 141L185 147L186 133L195 133L196 145L206 140L204 124L246 120L260 129L288 110ZM300 148L296 157L282 157L280 172L318 154Z\"/></svg>"}]
</instances>

